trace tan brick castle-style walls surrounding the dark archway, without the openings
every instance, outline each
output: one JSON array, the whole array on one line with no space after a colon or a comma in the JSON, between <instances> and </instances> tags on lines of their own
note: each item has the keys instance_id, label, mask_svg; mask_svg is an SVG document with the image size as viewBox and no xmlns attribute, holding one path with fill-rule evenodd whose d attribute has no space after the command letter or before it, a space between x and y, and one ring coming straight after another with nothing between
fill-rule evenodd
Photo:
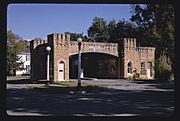
<instances>
[{"instance_id":1,"label":"tan brick castle-style walls surrounding the dark archway, without the openings","mask_svg":"<svg viewBox=\"0 0 180 121\"><path fill-rule=\"evenodd\" d=\"M31 77L36 80L46 78L47 52L45 48L50 46L50 80L58 81L58 66L60 62L63 62L65 64L63 80L68 81L69 57L78 54L78 43L70 41L68 34L50 34L47 38L48 40L31 41ZM145 69L148 62L154 65L155 48L138 47L135 38L122 38L120 43L82 42L81 47L82 53L102 53L116 57L116 60L107 60L107 63L116 65L116 71L112 73L115 78L128 77L127 64L129 62L132 62L133 70L136 68L137 73L141 73L141 62L145 62ZM141 75L141 77L146 78L146 75ZM154 70L152 70L153 77Z\"/></svg>"}]
</instances>

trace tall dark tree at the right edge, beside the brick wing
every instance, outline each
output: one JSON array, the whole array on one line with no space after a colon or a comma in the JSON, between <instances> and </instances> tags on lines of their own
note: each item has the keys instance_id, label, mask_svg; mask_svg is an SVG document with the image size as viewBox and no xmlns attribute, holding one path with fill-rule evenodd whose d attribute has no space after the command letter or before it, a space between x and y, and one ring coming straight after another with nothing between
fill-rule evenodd
<instances>
[{"instance_id":1,"label":"tall dark tree at the right edge, beside the brick wing","mask_svg":"<svg viewBox=\"0 0 180 121\"><path fill-rule=\"evenodd\" d=\"M145 31L143 42L156 47L156 61L164 65L162 59L174 71L174 6L171 4L134 5L131 21ZM161 66L160 66L161 67ZM166 68L167 69L167 68Z\"/></svg>"}]
</instances>

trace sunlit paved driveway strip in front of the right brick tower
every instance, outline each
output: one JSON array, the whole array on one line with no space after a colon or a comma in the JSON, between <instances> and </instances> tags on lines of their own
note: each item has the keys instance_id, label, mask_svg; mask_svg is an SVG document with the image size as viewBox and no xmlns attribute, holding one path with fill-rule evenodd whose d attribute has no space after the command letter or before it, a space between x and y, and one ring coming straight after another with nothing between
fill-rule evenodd
<instances>
[{"instance_id":1,"label":"sunlit paved driveway strip in front of the right brick tower","mask_svg":"<svg viewBox=\"0 0 180 121\"><path fill-rule=\"evenodd\" d=\"M74 80L76 81L76 80ZM153 90L153 91L173 91L174 83L157 83L154 80L149 81L130 81L125 79L97 79L82 80L82 82L92 83L99 86L120 89L120 90Z\"/></svg>"}]
</instances>

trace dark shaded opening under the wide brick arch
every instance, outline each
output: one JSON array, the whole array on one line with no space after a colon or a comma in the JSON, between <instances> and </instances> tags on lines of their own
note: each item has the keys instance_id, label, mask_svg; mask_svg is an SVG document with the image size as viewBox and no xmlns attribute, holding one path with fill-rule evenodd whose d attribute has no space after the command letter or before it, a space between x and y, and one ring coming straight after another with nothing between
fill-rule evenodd
<instances>
[{"instance_id":1,"label":"dark shaded opening under the wide brick arch","mask_svg":"<svg viewBox=\"0 0 180 121\"><path fill-rule=\"evenodd\" d=\"M89 78L117 78L117 57L102 53L82 53L81 68L84 77ZM78 55L69 59L70 78L77 78Z\"/></svg>"}]
</instances>

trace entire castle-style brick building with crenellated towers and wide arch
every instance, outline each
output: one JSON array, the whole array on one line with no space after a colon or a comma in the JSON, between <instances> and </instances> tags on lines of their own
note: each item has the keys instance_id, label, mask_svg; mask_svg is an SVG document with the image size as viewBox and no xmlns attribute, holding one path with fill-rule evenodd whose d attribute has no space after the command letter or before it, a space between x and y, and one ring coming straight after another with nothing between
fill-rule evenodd
<instances>
[{"instance_id":1,"label":"entire castle-style brick building with crenellated towers and wide arch","mask_svg":"<svg viewBox=\"0 0 180 121\"><path fill-rule=\"evenodd\" d=\"M31 77L46 79L46 47L50 46L50 80L77 78L78 43L69 34L50 34L47 40L32 40ZM82 42L83 77L127 78L133 72L140 78L154 78L154 47L139 47L135 38L122 38L119 43Z\"/></svg>"}]
</instances>

